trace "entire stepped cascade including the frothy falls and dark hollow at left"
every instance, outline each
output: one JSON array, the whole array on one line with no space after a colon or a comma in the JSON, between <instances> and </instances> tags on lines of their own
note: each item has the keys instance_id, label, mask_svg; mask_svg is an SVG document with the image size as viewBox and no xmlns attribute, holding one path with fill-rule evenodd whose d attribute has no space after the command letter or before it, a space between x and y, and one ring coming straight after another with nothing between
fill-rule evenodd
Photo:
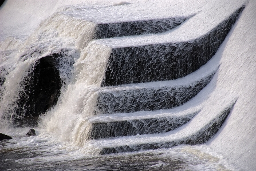
<instances>
[{"instance_id":1,"label":"entire stepped cascade including the frothy falls and dark hollow at left","mask_svg":"<svg viewBox=\"0 0 256 171\"><path fill-rule=\"evenodd\" d=\"M184 3L62 6L2 40L0 128L36 127L86 155L214 144L240 98L215 93L223 48L250 2Z\"/></svg>"}]
</instances>

